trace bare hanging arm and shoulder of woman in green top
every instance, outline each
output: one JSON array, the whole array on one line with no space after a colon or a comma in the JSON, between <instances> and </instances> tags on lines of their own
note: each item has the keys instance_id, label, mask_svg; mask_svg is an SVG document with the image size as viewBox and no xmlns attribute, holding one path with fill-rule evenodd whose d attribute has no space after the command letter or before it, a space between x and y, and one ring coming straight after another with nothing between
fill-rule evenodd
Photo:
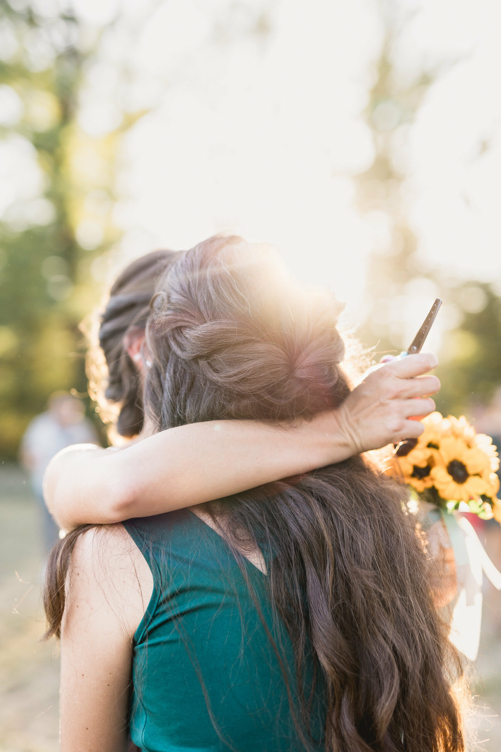
<instances>
[{"instance_id":1,"label":"bare hanging arm and shoulder of woman in green top","mask_svg":"<svg viewBox=\"0 0 501 752\"><path fill-rule=\"evenodd\" d=\"M151 593L122 526L80 536L62 624L61 752L126 752L132 636Z\"/></svg>"}]
</instances>

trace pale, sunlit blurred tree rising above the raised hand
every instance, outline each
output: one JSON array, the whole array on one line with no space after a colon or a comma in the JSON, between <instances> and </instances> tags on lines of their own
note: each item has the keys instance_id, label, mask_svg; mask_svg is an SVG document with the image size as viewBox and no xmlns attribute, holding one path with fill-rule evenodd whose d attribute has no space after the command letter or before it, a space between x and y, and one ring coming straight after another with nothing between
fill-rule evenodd
<instances>
[{"instance_id":1,"label":"pale, sunlit blurred tree rising above the raised hand","mask_svg":"<svg viewBox=\"0 0 501 752\"><path fill-rule=\"evenodd\" d=\"M364 113L373 135L374 158L370 167L355 178L358 207L374 240L367 268L366 323L361 337L367 342L379 341L377 354L398 353L408 344L406 323L412 311L406 286L417 276L431 276L422 274L418 240L406 217L403 184L407 175L400 153L406 149L409 126L434 75L427 72L411 83L399 82L391 59L399 29L391 15L384 14L384 18L385 39Z\"/></svg>"}]
</instances>

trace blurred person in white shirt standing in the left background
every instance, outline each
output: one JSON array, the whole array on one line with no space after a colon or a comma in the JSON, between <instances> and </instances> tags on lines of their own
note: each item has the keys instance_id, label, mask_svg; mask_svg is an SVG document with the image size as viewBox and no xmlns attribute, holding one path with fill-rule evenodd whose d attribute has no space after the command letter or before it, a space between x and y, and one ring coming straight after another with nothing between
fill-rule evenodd
<instances>
[{"instance_id":1,"label":"blurred person in white shirt standing in the left background","mask_svg":"<svg viewBox=\"0 0 501 752\"><path fill-rule=\"evenodd\" d=\"M46 553L58 540L59 527L44 503L42 481L53 456L72 444L99 445L98 434L85 417L80 399L67 392L54 392L47 402L47 411L29 423L20 448L20 461L31 476L33 493L41 511Z\"/></svg>"}]
</instances>

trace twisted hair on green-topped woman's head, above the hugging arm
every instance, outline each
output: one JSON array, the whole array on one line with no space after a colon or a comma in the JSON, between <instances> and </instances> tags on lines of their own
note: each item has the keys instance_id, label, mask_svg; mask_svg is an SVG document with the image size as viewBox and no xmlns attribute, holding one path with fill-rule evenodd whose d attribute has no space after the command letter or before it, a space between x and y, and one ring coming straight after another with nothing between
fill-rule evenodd
<instances>
[{"instance_id":1,"label":"twisted hair on green-topped woman's head, above the hugging arm","mask_svg":"<svg viewBox=\"0 0 501 752\"><path fill-rule=\"evenodd\" d=\"M349 393L343 306L292 284L267 247L211 238L167 271L152 302L146 402L158 429L218 418L290 420Z\"/></svg>"}]
</instances>

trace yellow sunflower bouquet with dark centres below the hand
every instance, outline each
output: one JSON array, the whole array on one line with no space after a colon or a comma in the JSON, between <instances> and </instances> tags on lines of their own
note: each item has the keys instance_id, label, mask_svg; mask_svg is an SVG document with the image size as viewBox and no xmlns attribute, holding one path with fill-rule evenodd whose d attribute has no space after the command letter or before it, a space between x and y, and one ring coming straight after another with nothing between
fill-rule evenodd
<instances>
[{"instance_id":1,"label":"yellow sunflower bouquet with dark centres below the hand","mask_svg":"<svg viewBox=\"0 0 501 752\"><path fill-rule=\"evenodd\" d=\"M501 523L499 458L490 436L475 432L465 417L439 412L421 421L419 438L401 441L386 472L412 487L424 501Z\"/></svg>"}]
</instances>

